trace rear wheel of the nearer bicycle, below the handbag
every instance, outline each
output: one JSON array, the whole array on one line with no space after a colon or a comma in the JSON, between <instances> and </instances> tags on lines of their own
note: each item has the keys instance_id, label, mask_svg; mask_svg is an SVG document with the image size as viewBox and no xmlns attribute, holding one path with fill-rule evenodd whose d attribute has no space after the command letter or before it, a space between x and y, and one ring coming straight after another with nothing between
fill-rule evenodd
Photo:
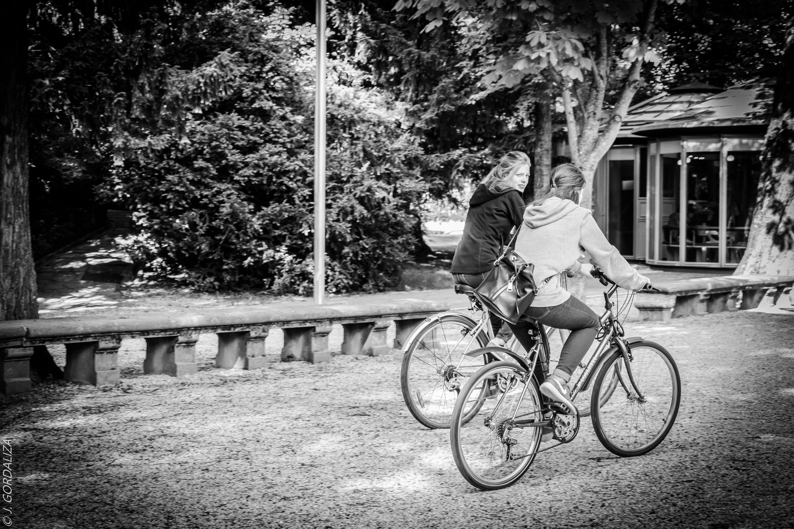
<instances>
[{"instance_id":1,"label":"rear wheel of the nearer bicycle, below the handbag","mask_svg":"<svg viewBox=\"0 0 794 529\"><path fill-rule=\"evenodd\" d=\"M468 415L472 415L470 419ZM512 362L492 362L469 378L455 404L449 439L457 469L479 489L503 489L529 470L543 419L538 384Z\"/></svg>"}]
</instances>

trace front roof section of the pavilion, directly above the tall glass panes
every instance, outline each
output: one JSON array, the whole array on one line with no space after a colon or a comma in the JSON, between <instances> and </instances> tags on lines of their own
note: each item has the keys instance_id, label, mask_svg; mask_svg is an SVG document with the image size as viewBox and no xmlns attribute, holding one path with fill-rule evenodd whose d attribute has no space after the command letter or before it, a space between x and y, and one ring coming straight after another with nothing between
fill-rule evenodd
<instances>
[{"instance_id":1,"label":"front roof section of the pavilion, directly above the tall glass panes","mask_svg":"<svg viewBox=\"0 0 794 529\"><path fill-rule=\"evenodd\" d=\"M772 79L755 79L731 86L719 94L711 94L702 102L664 120L636 125L637 136L658 136L660 133L681 133L693 128L765 127L769 124L769 108L773 95Z\"/></svg>"}]
</instances>

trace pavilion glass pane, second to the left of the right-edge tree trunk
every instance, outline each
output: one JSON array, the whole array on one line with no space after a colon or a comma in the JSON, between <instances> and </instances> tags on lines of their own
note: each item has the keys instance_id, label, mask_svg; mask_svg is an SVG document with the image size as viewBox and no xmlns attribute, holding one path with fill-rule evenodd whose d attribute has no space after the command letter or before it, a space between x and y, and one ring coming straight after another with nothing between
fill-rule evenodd
<instances>
[{"instance_id":1,"label":"pavilion glass pane, second to the left of the right-edge tree trunk","mask_svg":"<svg viewBox=\"0 0 794 529\"><path fill-rule=\"evenodd\" d=\"M686 255L719 263L719 152L687 153Z\"/></svg>"}]
</instances>

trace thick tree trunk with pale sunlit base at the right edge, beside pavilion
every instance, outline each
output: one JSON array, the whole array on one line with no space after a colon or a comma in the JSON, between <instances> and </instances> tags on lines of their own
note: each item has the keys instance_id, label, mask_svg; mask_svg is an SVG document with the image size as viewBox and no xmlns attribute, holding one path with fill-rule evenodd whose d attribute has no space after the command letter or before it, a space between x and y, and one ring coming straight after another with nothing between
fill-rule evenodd
<instances>
[{"instance_id":1,"label":"thick tree trunk with pale sunlit base at the right edge, beside pavilion","mask_svg":"<svg viewBox=\"0 0 794 529\"><path fill-rule=\"evenodd\" d=\"M794 18L788 21L750 237L734 274L794 275Z\"/></svg>"}]
</instances>

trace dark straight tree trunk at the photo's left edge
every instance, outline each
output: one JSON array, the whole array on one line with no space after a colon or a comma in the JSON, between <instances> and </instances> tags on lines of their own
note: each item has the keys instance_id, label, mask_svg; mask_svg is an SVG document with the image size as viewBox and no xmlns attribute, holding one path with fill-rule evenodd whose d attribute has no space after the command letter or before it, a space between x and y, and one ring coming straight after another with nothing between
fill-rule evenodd
<instances>
[{"instance_id":1,"label":"dark straight tree trunk at the photo's left edge","mask_svg":"<svg viewBox=\"0 0 794 529\"><path fill-rule=\"evenodd\" d=\"M0 21L0 320L38 317L28 192L28 2Z\"/></svg>"}]
</instances>

